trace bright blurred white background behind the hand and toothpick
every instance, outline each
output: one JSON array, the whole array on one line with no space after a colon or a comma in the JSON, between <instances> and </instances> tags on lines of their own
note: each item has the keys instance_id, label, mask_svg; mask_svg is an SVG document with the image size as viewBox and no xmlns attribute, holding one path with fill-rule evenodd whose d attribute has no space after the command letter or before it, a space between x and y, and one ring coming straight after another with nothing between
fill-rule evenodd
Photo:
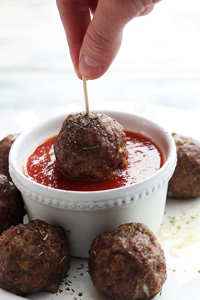
<instances>
[{"instance_id":1,"label":"bright blurred white background behind the hand and toothpick","mask_svg":"<svg viewBox=\"0 0 200 300\"><path fill-rule=\"evenodd\" d=\"M90 105L125 101L200 110L200 3L164 0L124 30L109 71L88 82ZM84 104L55 0L0 0L0 108Z\"/></svg>"}]
</instances>

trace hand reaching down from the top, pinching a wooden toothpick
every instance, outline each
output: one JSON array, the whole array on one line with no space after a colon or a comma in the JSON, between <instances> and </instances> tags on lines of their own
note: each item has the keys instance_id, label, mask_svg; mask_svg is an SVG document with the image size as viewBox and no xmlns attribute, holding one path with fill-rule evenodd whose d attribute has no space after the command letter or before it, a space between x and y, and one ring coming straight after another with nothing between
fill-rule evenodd
<instances>
[{"instance_id":1,"label":"hand reaching down from the top, pinching a wooden toothpick","mask_svg":"<svg viewBox=\"0 0 200 300\"><path fill-rule=\"evenodd\" d=\"M57 0L77 76L102 76L118 53L124 26L131 19L150 13L159 1Z\"/></svg>"}]
</instances>

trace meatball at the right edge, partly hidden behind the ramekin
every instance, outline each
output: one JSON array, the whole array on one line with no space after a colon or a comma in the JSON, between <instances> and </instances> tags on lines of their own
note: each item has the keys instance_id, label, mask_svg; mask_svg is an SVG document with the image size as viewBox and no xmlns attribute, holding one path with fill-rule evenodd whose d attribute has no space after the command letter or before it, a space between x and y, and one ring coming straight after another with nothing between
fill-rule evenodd
<instances>
[{"instance_id":1,"label":"meatball at the right edge, partly hidden behind the ramekin","mask_svg":"<svg viewBox=\"0 0 200 300\"><path fill-rule=\"evenodd\" d=\"M168 196L191 198L200 195L200 142L172 134L177 149L177 166L169 181Z\"/></svg>"}]
</instances>

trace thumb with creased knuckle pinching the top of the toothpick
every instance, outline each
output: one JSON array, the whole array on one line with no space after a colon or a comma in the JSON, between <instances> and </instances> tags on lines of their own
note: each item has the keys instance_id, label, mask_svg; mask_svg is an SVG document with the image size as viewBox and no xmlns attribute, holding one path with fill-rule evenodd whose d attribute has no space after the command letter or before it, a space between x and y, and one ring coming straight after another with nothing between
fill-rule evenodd
<instances>
[{"instance_id":1,"label":"thumb with creased knuckle pinching the top of the toothpick","mask_svg":"<svg viewBox=\"0 0 200 300\"><path fill-rule=\"evenodd\" d=\"M102 76L112 64L121 46L126 22L120 16L119 6L112 5L111 8L111 2L98 1L94 18L83 39L79 55L79 73L86 79Z\"/></svg>"}]
</instances>

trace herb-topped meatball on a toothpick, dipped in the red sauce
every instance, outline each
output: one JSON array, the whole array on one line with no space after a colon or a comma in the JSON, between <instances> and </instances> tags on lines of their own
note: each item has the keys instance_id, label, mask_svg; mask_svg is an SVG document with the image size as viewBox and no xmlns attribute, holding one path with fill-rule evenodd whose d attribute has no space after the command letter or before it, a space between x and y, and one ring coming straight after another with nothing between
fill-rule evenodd
<instances>
[{"instance_id":1,"label":"herb-topped meatball on a toothpick, dipped in the red sauce","mask_svg":"<svg viewBox=\"0 0 200 300\"><path fill-rule=\"evenodd\" d=\"M126 166L126 134L115 119L106 115L76 113L64 120L54 152L64 174L99 179Z\"/></svg>"}]
</instances>

